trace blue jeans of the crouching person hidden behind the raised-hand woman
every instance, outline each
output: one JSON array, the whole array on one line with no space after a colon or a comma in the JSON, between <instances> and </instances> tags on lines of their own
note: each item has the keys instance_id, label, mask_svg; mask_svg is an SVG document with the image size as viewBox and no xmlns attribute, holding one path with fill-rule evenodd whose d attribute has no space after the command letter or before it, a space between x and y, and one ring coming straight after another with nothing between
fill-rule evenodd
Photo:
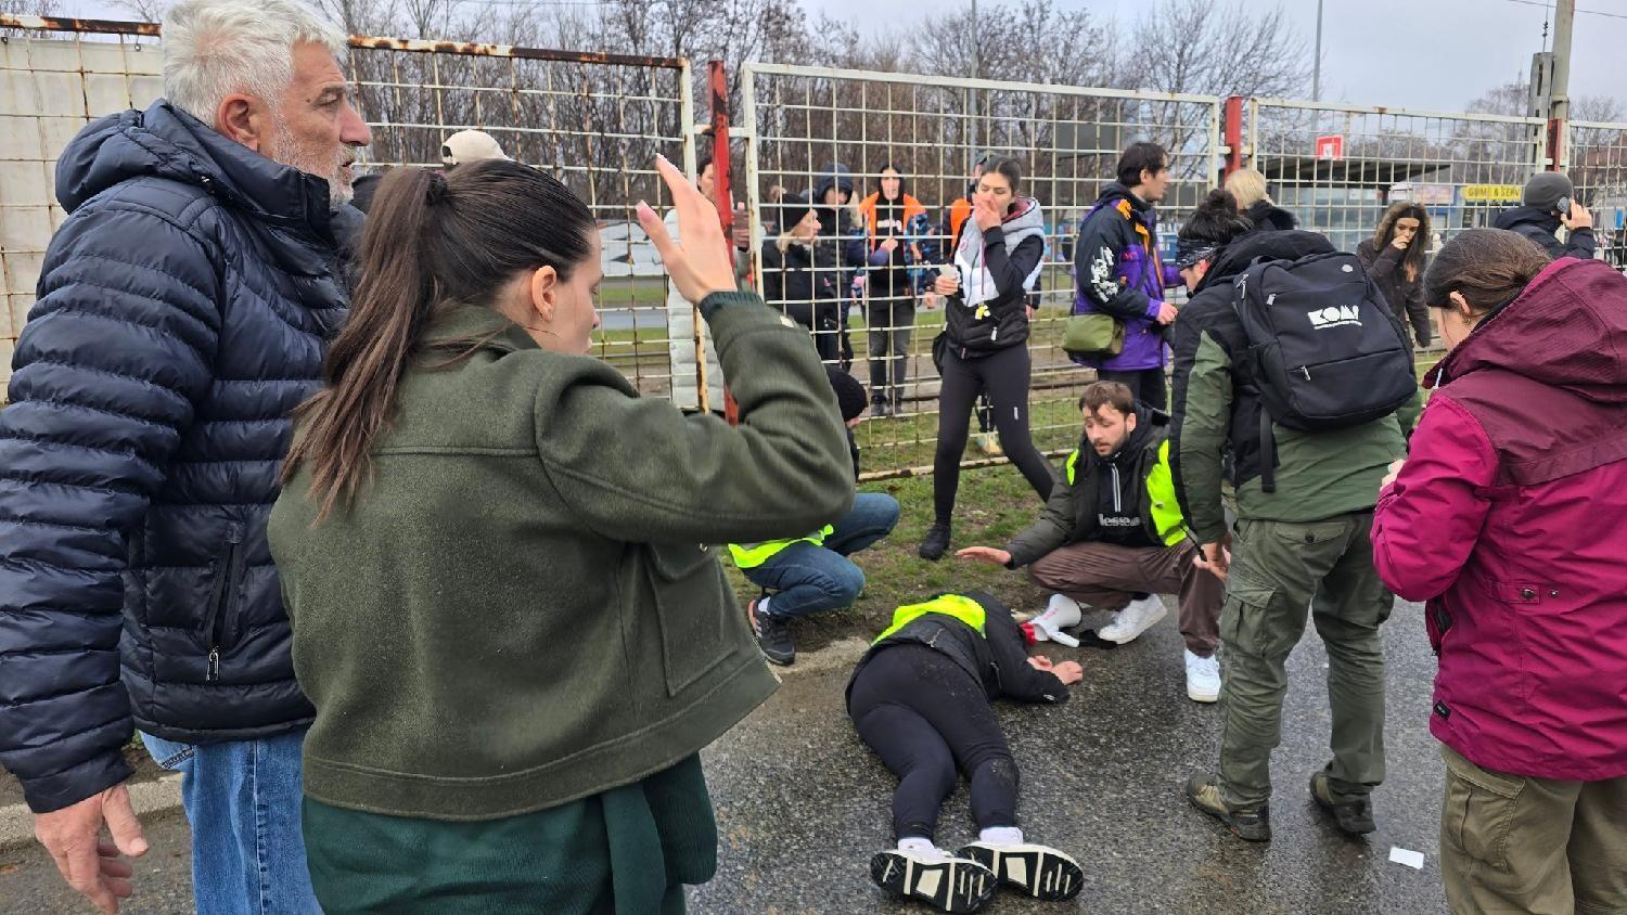
<instances>
[{"instance_id":1,"label":"blue jeans of the crouching person hidden behind the raised-hand woman","mask_svg":"<svg viewBox=\"0 0 1627 915\"><path fill-rule=\"evenodd\" d=\"M870 546L898 525L898 499L859 492L853 510L835 525L823 546L792 543L768 562L745 570L745 580L771 592L768 613L805 616L853 605L864 590L864 572L848 556Z\"/></svg>"}]
</instances>

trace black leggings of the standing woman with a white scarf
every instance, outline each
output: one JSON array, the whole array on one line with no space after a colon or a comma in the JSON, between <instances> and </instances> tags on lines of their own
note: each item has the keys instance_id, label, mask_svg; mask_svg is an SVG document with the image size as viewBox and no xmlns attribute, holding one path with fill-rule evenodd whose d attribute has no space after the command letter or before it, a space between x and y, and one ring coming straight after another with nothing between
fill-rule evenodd
<instances>
[{"instance_id":1,"label":"black leggings of the standing woman with a white scarf","mask_svg":"<svg viewBox=\"0 0 1627 915\"><path fill-rule=\"evenodd\" d=\"M955 514L955 491L960 489L960 458L966 453L971 405L988 392L994 406L994 427L1001 449L1017 465L1028 486L1045 502L1051 497L1056 476L1049 462L1033 447L1028 432L1028 348L1007 346L988 356L962 359L944 354L944 388L937 413L937 457L932 462L932 507L937 523L947 525Z\"/></svg>"}]
</instances>

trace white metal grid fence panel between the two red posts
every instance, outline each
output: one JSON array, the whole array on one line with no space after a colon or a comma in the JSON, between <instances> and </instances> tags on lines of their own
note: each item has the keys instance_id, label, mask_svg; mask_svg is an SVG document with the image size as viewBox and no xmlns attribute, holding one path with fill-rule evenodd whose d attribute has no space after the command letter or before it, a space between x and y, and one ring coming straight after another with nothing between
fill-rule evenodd
<instances>
[{"instance_id":1,"label":"white metal grid fence panel between the two red posts","mask_svg":"<svg viewBox=\"0 0 1627 915\"><path fill-rule=\"evenodd\" d=\"M906 192L927 208L936 226L944 210L965 195L978 151L1014 156L1022 164L1023 193L1040 202L1048 242L1033 296L1038 310L1028 345L1030 421L1041 450L1059 452L1077 444L1075 401L1093 375L1074 366L1059 343L1074 299L1072 247L1079 219L1113 180L1126 145L1160 141L1173 159L1175 182L1160 206L1163 242L1173 245L1181 215L1219 174L1220 99L770 63L747 63L742 76L758 289L763 245L774 244L779 231L776 198L783 192L810 193L828 163L851 169L854 202L877 190L883 166L900 169ZM911 239L927 254L929 245L937 245L937 263L949 260L942 250L949 242L940 228ZM843 291L853 288L854 273L864 276L853 268L827 271ZM887 361L869 356L872 346L880 348L882 333L870 333L879 328L870 327L867 315L880 296L861 283L849 296L851 371L880 388L887 384L882 374ZM903 359L901 414L867 416L857 431L866 476L918 473L932 463L939 382L931 345L942 330L944 312L916 306L908 315L875 314L877 322L890 320L883 328L911 335ZM965 463L983 460L988 458L973 449Z\"/></svg>"}]
</instances>

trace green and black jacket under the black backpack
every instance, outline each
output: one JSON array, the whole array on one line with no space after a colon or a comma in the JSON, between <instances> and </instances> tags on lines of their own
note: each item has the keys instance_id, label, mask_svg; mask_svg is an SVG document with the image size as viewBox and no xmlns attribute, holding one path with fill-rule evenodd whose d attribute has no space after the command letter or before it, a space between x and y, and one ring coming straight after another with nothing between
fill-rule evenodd
<instances>
[{"instance_id":1,"label":"green and black jacket under the black backpack","mask_svg":"<svg viewBox=\"0 0 1627 915\"><path fill-rule=\"evenodd\" d=\"M1232 280L1254 258L1297 260L1329 254L1333 244L1303 231L1245 236L1215 257L1191 301L1175 319L1175 421L1170 463L1175 494L1197 543L1225 535L1222 483L1237 492L1241 518L1319 522L1334 515L1370 512L1389 462L1406 455L1402 427L1411 429L1417 400L1391 416L1328 432L1300 432L1272 424L1277 445L1277 491L1259 483L1258 390L1238 377L1238 356L1248 349L1243 323L1232 304Z\"/></svg>"}]
</instances>

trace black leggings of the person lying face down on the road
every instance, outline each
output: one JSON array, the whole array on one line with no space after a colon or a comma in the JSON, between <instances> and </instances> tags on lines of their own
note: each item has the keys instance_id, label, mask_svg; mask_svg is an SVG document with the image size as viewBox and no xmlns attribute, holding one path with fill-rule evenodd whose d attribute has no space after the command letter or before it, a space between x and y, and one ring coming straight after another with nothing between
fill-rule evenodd
<instances>
[{"instance_id":1,"label":"black leggings of the person lying face down on the road","mask_svg":"<svg viewBox=\"0 0 1627 915\"><path fill-rule=\"evenodd\" d=\"M1017 761L983 684L926 645L882 648L848 694L862 739L898 775L893 839L934 839L937 808L955 790L955 767L971 782L978 829L1017 826Z\"/></svg>"}]
</instances>

